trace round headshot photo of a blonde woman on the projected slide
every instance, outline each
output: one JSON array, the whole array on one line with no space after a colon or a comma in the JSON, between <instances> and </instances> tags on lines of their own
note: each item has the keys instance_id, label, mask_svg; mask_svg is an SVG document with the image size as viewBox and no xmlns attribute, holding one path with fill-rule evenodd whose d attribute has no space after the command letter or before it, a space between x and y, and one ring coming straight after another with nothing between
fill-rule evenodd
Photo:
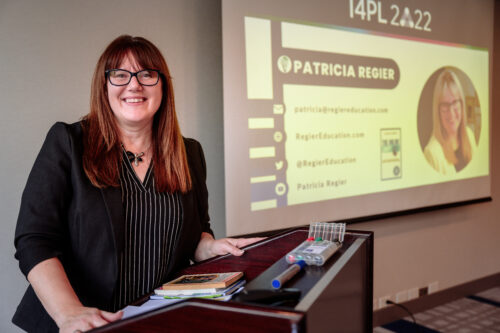
<instances>
[{"instance_id":1,"label":"round headshot photo of a blonde woman on the projected slide","mask_svg":"<svg viewBox=\"0 0 500 333\"><path fill-rule=\"evenodd\" d=\"M454 175L474 158L481 108L472 81L456 67L441 67L420 95L417 130L422 153L442 175Z\"/></svg>"}]
</instances>

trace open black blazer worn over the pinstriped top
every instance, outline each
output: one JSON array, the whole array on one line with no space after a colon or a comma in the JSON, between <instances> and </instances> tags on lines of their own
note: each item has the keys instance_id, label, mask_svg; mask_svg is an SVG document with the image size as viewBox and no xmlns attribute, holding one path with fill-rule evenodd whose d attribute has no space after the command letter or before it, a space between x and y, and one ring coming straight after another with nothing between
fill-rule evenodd
<instances>
[{"instance_id":1,"label":"open black blazer worn over the pinstriped top","mask_svg":"<svg viewBox=\"0 0 500 333\"><path fill-rule=\"evenodd\" d=\"M119 187L98 189L83 170L81 123L56 123L35 161L23 192L16 227L15 257L23 274L59 258L85 306L111 310L124 246L124 211ZM182 195L183 221L168 273L189 265L208 216L206 165L201 145L184 139L193 188ZM213 234L213 233L212 233ZM31 286L13 323L29 332L57 332Z\"/></svg>"}]
</instances>

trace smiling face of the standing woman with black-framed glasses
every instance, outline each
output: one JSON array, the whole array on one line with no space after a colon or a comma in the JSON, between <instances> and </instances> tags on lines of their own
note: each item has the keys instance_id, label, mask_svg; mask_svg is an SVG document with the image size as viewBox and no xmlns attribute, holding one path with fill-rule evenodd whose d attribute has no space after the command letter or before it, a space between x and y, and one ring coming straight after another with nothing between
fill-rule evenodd
<instances>
[{"instance_id":1,"label":"smiling face of the standing woman with black-framed glasses","mask_svg":"<svg viewBox=\"0 0 500 333\"><path fill-rule=\"evenodd\" d=\"M119 69L135 73L144 68L128 55L120 63ZM161 80L155 86L143 86L137 81L137 77L133 76L128 85L114 86L108 79L107 88L109 105L119 127L125 129L151 126L153 116L161 104Z\"/></svg>"}]
</instances>

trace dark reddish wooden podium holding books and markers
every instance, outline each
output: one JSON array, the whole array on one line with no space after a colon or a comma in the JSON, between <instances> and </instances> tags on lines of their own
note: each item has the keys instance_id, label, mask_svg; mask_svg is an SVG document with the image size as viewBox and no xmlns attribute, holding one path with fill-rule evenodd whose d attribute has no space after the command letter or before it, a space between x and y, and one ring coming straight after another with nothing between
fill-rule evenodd
<instances>
[{"instance_id":1,"label":"dark reddish wooden podium holding books and markers","mask_svg":"<svg viewBox=\"0 0 500 333\"><path fill-rule=\"evenodd\" d=\"M269 237L241 257L220 256L182 274L242 271L246 289L272 289L288 264L284 256L308 228ZM373 233L346 231L342 247L324 266L307 266L286 288L301 291L290 307L189 299L111 323L92 332L372 332Z\"/></svg>"}]
</instances>

